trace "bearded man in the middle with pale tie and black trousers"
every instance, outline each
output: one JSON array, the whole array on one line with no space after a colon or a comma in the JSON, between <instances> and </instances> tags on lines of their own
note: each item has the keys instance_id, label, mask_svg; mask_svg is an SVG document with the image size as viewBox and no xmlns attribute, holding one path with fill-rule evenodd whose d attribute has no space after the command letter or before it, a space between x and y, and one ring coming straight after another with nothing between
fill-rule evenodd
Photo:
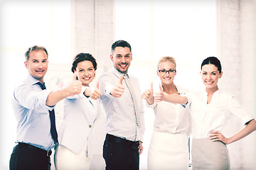
<instances>
[{"instance_id":1,"label":"bearded man in the middle with pale tie and black trousers","mask_svg":"<svg viewBox=\"0 0 256 170\"><path fill-rule=\"evenodd\" d=\"M112 44L114 68L100 77L101 101L107 117L103 146L106 169L139 169L144 135L144 108L139 81L127 74L132 61L128 42Z\"/></svg>"}]
</instances>

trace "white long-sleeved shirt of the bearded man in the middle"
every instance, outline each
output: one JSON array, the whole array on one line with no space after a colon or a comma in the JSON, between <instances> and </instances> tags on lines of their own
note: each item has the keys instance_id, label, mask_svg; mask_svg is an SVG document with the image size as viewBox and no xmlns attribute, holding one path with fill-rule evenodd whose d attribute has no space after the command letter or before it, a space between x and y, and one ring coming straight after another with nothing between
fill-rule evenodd
<instances>
[{"instance_id":1,"label":"white long-sleeved shirt of the bearded man in the middle","mask_svg":"<svg viewBox=\"0 0 256 170\"><path fill-rule=\"evenodd\" d=\"M107 117L105 130L110 135L122 137L127 140L143 141L145 129L144 108L139 81L136 78L129 76L129 82L132 84L134 93L137 97L141 128L137 125L132 96L124 80L122 81L122 84L125 86L124 94L120 98L115 98L110 94L110 91L118 84L121 75L124 74L113 68L110 72L102 74L99 79L100 91L102 91L102 96L100 98L103 110Z\"/></svg>"}]
</instances>

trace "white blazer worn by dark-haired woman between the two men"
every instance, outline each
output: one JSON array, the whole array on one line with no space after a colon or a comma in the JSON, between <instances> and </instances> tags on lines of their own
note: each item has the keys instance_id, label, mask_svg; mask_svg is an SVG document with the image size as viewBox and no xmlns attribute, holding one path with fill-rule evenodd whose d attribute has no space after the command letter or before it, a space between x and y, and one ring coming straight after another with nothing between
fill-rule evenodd
<instances>
[{"instance_id":1,"label":"white blazer worn by dark-haired woman between the two men","mask_svg":"<svg viewBox=\"0 0 256 170\"><path fill-rule=\"evenodd\" d=\"M58 135L60 145L68 147L76 154L87 144L87 157L92 156L92 128L100 115L100 100L87 98L83 93L64 99L63 123Z\"/></svg>"}]
</instances>

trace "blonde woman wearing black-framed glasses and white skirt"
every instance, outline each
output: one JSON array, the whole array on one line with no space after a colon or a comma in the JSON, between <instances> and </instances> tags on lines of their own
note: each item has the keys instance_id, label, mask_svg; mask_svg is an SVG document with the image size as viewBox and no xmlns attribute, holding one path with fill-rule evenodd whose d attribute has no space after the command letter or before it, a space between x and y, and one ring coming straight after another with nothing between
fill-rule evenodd
<instances>
[{"instance_id":1,"label":"blonde woman wearing black-framed glasses and white skirt","mask_svg":"<svg viewBox=\"0 0 256 170\"><path fill-rule=\"evenodd\" d=\"M164 94L183 96L186 91L174 84L176 61L174 57L162 57L157 65L161 80L159 88ZM154 132L148 153L148 169L188 169L188 104L154 101L153 85L144 91L146 106L154 108Z\"/></svg>"}]
</instances>

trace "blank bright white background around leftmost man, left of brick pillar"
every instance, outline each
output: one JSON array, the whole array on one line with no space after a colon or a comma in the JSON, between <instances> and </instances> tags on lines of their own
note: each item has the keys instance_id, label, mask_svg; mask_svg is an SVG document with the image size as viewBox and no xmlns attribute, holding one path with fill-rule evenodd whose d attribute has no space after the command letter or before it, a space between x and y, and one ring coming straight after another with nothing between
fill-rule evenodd
<instances>
[{"instance_id":1,"label":"blank bright white background around leftmost man, left of brick pillar","mask_svg":"<svg viewBox=\"0 0 256 170\"><path fill-rule=\"evenodd\" d=\"M0 1L1 55L1 159L0 169L9 169L16 140L16 118L11 96L28 74L24 53L33 45L48 50L48 69L70 62L70 1ZM50 74L47 74L49 77ZM49 85L49 82L48 82ZM48 86L49 87L49 86Z\"/></svg>"}]
</instances>

